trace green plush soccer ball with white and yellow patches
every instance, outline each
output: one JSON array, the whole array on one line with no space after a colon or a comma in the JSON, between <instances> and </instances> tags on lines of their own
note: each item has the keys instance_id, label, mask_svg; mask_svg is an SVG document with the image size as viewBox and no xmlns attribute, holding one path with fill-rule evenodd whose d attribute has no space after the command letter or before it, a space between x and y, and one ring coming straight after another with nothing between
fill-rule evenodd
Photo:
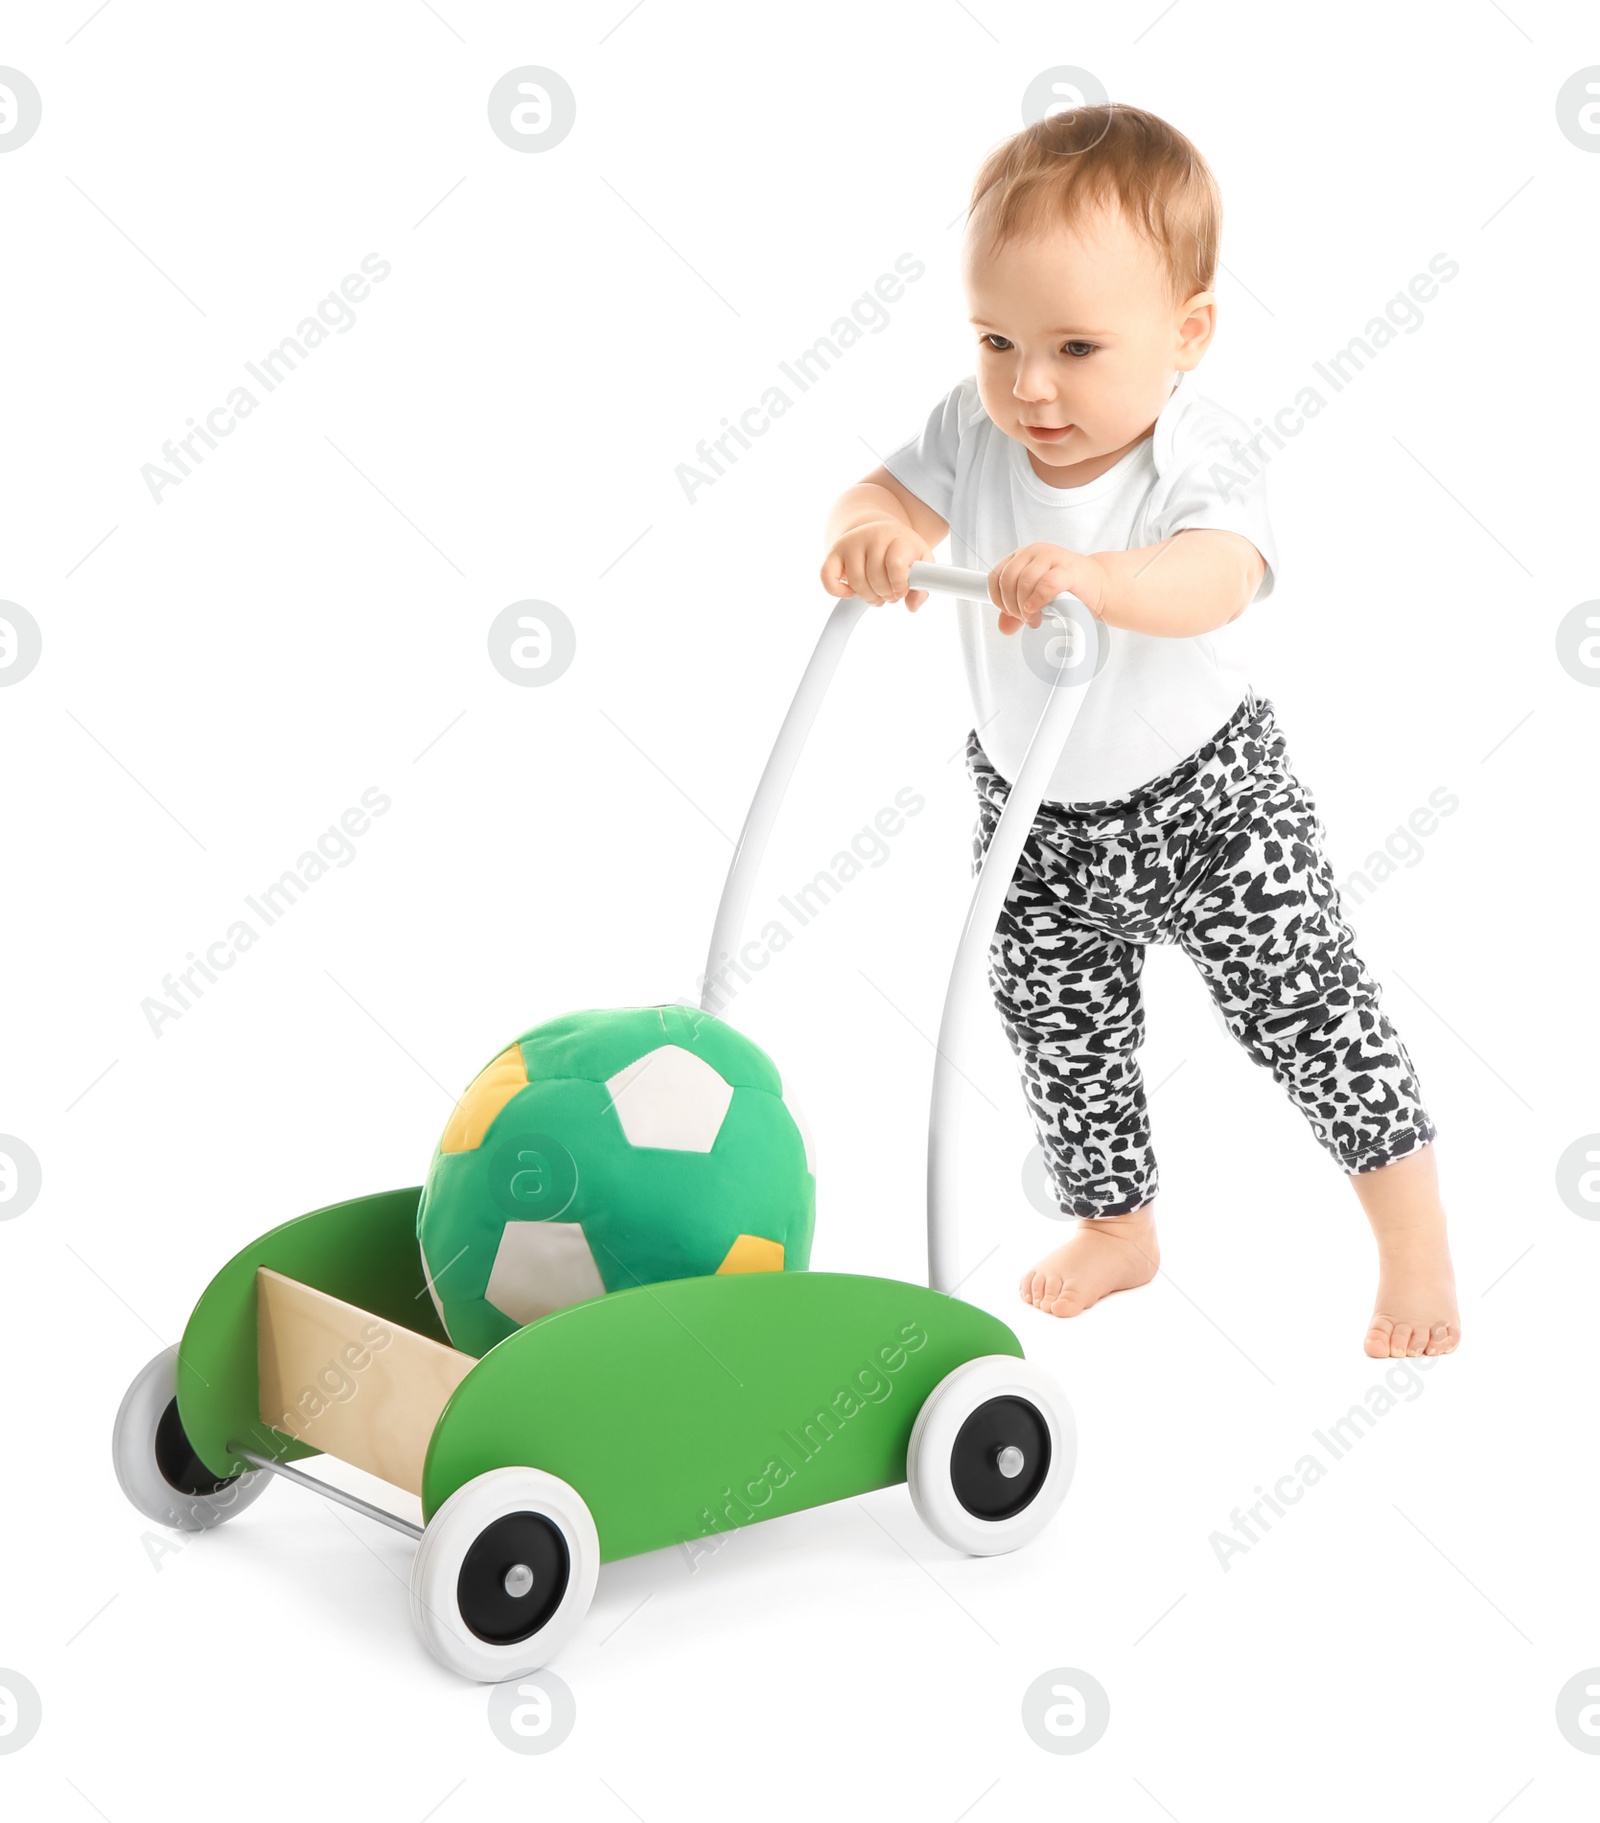
<instances>
[{"instance_id":1,"label":"green plush soccer ball with white and yellow patches","mask_svg":"<svg viewBox=\"0 0 1600 1823\"><path fill-rule=\"evenodd\" d=\"M456 1103L417 1209L439 1320L485 1354L583 1298L804 1271L816 1176L771 1057L711 1014L534 1026Z\"/></svg>"}]
</instances>

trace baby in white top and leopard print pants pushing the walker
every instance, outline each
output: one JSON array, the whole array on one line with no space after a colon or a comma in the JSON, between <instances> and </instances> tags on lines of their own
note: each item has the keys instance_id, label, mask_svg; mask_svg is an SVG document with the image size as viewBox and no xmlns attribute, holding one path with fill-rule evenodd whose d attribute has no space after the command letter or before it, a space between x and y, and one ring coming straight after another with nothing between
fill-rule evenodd
<instances>
[{"instance_id":1,"label":"baby in white top and leopard print pants pushing the walker","mask_svg":"<svg viewBox=\"0 0 1600 1823\"><path fill-rule=\"evenodd\" d=\"M1075 108L993 151L964 242L977 374L840 496L822 582L920 607L909 567L946 534L988 571L990 602L957 607L979 857L1051 687L1044 607L1070 591L1101 623L990 952L1062 1212L1092 1218L1022 1298L1077 1316L1155 1276L1139 973L1146 944L1179 942L1372 1223L1367 1354L1449 1354L1434 1125L1272 704L1217 636L1277 569L1259 479L1241 481L1250 430L1188 377L1215 332L1219 226L1206 162L1137 108Z\"/></svg>"}]
</instances>

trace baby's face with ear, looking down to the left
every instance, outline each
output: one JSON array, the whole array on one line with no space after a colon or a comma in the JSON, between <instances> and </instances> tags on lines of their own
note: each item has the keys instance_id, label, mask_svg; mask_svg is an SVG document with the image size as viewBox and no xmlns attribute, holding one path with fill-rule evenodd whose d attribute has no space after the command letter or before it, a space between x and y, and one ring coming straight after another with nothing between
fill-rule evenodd
<instances>
[{"instance_id":1,"label":"baby's face with ear, looking down to the left","mask_svg":"<svg viewBox=\"0 0 1600 1823\"><path fill-rule=\"evenodd\" d=\"M999 248L988 239L980 208L962 270L984 410L1044 479L1093 479L1150 430L1174 374L1199 363L1212 294L1174 303L1161 255L1117 210Z\"/></svg>"}]
</instances>

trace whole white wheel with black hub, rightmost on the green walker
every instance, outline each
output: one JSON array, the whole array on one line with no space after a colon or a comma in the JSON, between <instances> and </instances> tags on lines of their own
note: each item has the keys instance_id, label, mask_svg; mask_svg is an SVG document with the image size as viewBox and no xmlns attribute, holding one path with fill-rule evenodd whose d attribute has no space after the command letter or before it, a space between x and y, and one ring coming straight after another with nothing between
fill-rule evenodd
<instances>
[{"instance_id":1,"label":"whole white wheel with black hub, rightmost on the green walker","mask_svg":"<svg viewBox=\"0 0 1600 1823\"><path fill-rule=\"evenodd\" d=\"M924 1400L906 1484L935 1537L993 1557L1050 1524L1075 1457L1072 1407L1050 1375L1015 1354L980 1354Z\"/></svg>"}]
</instances>

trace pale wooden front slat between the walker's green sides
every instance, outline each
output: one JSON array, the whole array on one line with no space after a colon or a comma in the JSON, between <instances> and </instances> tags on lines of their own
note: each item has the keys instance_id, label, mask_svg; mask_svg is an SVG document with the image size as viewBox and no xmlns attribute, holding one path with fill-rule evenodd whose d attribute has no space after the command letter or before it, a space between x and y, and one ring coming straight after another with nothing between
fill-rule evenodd
<instances>
[{"instance_id":1,"label":"pale wooden front slat between the walker's green sides","mask_svg":"<svg viewBox=\"0 0 1600 1823\"><path fill-rule=\"evenodd\" d=\"M255 1307L262 1422L421 1495L428 1438L477 1362L270 1267Z\"/></svg>"}]
</instances>

